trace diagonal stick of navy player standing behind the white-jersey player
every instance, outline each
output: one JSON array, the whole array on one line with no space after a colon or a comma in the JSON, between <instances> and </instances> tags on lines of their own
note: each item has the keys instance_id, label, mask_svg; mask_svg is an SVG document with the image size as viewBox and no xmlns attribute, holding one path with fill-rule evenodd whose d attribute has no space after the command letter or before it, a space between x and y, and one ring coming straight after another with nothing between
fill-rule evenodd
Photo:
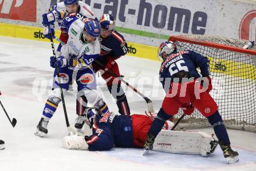
<instances>
[{"instance_id":1,"label":"diagonal stick of navy player standing behind the white-jersey player","mask_svg":"<svg viewBox=\"0 0 256 171\"><path fill-rule=\"evenodd\" d=\"M59 41L62 44L65 44L64 42L62 42L60 39L55 38L57 41ZM94 60L95 63L97 63L99 65L99 67L101 67L102 69L105 69L104 66L97 60ZM129 86L129 88L131 88L134 92L138 93L141 97L143 97L143 99L146 101L147 105L148 105L148 112L154 112L154 106L153 103L150 99L148 99L148 97L144 96L143 93L139 92L136 88L134 88L133 86L131 86L128 82L126 82L124 79L122 79L122 77L118 77L118 75L116 75L115 73L113 73L113 71L108 70L108 72L113 75L113 77L118 78L120 81L122 81L123 83L125 83L127 86ZM140 74L140 73L138 73Z\"/></svg>"}]
</instances>

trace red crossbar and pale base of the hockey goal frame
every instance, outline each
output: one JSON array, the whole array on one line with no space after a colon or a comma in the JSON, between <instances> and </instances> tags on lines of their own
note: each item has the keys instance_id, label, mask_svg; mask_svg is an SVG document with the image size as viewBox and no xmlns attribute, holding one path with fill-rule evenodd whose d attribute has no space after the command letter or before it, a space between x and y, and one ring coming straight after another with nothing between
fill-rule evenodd
<instances>
[{"instance_id":1,"label":"red crossbar and pale base of the hockey goal frame","mask_svg":"<svg viewBox=\"0 0 256 171\"><path fill-rule=\"evenodd\" d=\"M201 36L204 37L204 35L201 35ZM207 37L207 36L205 36L205 37ZM215 37L215 38L218 38L218 37ZM253 61L254 61L253 66L256 67L256 50L243 49L243 48L234 47L234 46L230 46L230 45L223 45L223 44L220 44L217 42L208 42L208 41L204 41L204 40L188 38L188 37L186 37L186 35L172 35L172 36L170 36L168 41L191 43L194 45L207 46L209 48L223 49L223 50L229 50L229 51L236 52L236 53L249 54L253 57ZM193 49L191 49L191 50L193 50ZM249 132L256 132L256 125L246 125L246 124L242 124L242 125L227 124L226 125L225 124L225 126L226 126L226 128L230 128L230 129L239 129L239 130L246 130ZM180 129L187 129L187 128L194 129L194 128L205 128L205 127L207 127L207 126L200 125L199 123L191 123L190 122L190 123L180 123L178 126L178 129L179 128Z\"/></svg>"}]
</instances>

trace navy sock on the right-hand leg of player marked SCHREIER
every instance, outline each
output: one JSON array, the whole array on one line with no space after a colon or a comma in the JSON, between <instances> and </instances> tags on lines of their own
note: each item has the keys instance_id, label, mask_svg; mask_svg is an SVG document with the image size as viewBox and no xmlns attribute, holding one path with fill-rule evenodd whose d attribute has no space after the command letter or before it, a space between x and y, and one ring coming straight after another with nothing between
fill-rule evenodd
<instances>
[{"instance_id":1,"label":"navy sock on the right-hand leg of player marked SCHREIER","mask_svg":"<svg viewBox=\"0 0 256 171\"><path fill-rule=\"evenodd\" d=\"M230 144L229 135L227 134L227 130L222 121L221 115L217 110L214 114L207 117L209 123L214 127L214 132L219 141L223 141L224 144Z\"/></svg>"}]
</instances>

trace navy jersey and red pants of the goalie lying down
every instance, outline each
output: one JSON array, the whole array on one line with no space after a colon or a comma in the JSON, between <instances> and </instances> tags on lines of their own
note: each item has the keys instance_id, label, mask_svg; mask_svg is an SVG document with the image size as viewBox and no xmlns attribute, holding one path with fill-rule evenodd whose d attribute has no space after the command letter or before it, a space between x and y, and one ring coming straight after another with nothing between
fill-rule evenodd
<instances>
[{"instance_id":1,"label":"navy jersey and red pants of the goalie lying down","mask_svg":"<svg viewBox=\"0 0 256 171\"><path fill-rule=\"evenodd\" d=\"M87 140L88 150L143 147L151 124L152 120L145 115L104 114L98 117L93 125L93 134Z\"/></svg>"}]
</instances>

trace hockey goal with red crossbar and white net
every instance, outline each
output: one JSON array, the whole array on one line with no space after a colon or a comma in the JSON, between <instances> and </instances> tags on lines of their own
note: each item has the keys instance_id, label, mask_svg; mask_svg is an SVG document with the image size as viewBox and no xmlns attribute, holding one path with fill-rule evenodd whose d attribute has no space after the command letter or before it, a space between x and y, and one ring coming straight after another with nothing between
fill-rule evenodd
<instances>
[{"instance_id":1,"label":"hockey goal with red crossbar and white net","mask_svg":"<svg viewBox=\"0 0 256 171\"><path fill-rule=\"evenodd\" d=\"M248 41L205 35L176 35L177 51L194 50L210 61L212 86L210 94L218 104L227 128L256 132L256 48L243 49ZM182 111L176 115L179 118ZM210 126L198 110L186 116L179 128Z\"/></svg>"}]
</instances>

